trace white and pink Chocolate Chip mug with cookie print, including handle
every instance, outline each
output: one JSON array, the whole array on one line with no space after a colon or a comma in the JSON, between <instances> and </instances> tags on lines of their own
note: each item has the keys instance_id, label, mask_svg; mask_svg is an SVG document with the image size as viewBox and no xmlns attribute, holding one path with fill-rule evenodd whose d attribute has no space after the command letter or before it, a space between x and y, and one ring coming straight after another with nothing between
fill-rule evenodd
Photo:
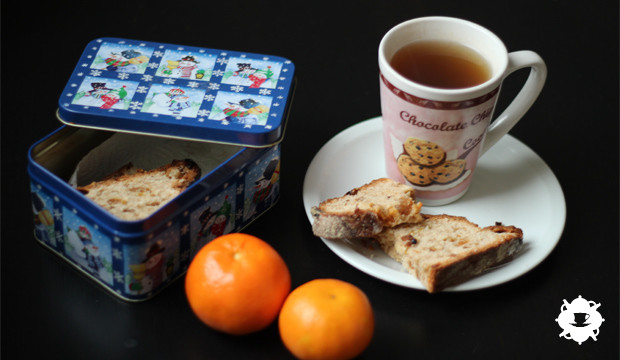
<instances>
[{"instance_id":1,"label":"white and pink Chocolate Chip mug with cookie print, including handle","mask_svg":"<svg viewBox=\"0 0 620 360\"><path fill-rule=\"evenodd\" d=\"M488 63L490 78L467 88L444 89L409 80L391 66L393 55L403 46L434 40L475 50ZM531 70L523 88L491 121L502 81L526 67ZM478 158L523 117L547 76L545 63L536 53L508 53L489 30L449 17L418 18L392 28L379 45L379 70L387 175L412 185L418 199L430 206L465 194ZM417 161L424 156L435 159Z\"/></svg>"}]
</instances>

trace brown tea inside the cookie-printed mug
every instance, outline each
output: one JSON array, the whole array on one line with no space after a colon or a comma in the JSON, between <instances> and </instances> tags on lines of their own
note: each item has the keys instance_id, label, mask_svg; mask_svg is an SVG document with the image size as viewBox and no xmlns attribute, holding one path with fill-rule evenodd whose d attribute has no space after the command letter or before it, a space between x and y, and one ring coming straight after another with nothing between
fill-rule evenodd
<instances>
[{"instance_id":1,"label":"brown tea inside the cookie-printed mug","mask_svg":"<svg viewBox=\"0 0 620 360\"><path fill-rule=\"evenodd\" d=\"M390 65L407 79L443 89L476 86L491 78L487 60L452 41L417 41L400 48Z\"/></svg>"}]
</instances>

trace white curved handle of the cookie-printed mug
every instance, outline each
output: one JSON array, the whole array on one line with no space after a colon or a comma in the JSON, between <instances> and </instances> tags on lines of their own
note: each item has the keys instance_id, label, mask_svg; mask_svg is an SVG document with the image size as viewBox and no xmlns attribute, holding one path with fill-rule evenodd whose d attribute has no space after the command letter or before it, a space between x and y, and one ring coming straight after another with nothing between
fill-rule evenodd
<instances>
[{"instance_id":1,"label":"white curved handle of the cookie-printed mug","mask_svg":"<svg viewBox=\"0 0 620 360\"><path fill-rule=\"evenodd\" d=\"M521 120L540 94L547 79L547 66L543 59L533 51L522 50L509 53L508 67L504 73L504 78L516 70L526 67L531 68L527 81L504 112L489 125L480 152L481 156Z\"/></svg>"}]
</instances>

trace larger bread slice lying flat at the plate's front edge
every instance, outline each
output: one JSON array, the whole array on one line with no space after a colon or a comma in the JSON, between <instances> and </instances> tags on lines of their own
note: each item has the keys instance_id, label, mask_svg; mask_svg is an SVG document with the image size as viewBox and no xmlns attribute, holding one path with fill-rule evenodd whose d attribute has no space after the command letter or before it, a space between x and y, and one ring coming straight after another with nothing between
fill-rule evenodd
<instances>
[{"instance_id":1,"label":"larger bread slice lying flat at the plate's front edge","mask_svg":"<svg viewBox=\"0 0 620 360\"><path fill-rule=\"evenodd\" d=\"M523 241L514 226L480 228L464 217L424 215L416 224L385 228L374 238L430 293L462 283L510 259Z\"/></svg>"}]
</instances>

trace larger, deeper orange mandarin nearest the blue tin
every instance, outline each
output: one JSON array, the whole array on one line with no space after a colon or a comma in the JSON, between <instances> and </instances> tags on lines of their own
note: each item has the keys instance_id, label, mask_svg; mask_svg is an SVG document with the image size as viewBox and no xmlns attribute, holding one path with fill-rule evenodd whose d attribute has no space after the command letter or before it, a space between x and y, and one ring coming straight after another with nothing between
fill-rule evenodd
<instances>
[{"instance_id":1,"label":"larger, deeper orange mandarin nearest the blue tin","mask_svg":"<svg viewBox=\"0 0 620 360\"><path fill-rule=\"evenodd\" d=\"M218 331L244 335L278 316L291 290L282 257L248 234L220 236L198 251L185 277L185 293L196 316Z\"/></svg>"}]
</instances>

